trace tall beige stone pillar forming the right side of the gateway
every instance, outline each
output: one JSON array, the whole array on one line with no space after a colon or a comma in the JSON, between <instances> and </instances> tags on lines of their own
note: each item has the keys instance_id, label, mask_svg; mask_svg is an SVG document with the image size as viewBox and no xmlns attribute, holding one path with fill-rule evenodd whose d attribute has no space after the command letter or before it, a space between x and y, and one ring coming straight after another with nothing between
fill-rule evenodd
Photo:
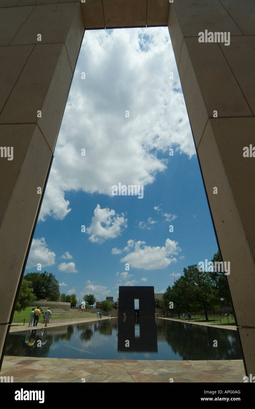
<instances>
[{"instance_id":1,"label":"tall beige stone pillar forming the right side of the gateway","mask_svg":"<svg viewBox=\"0 0 255 409\"><path fill-rule=\"evenodd\" d=\"M243 157L243 148L255 146L254 12L252 0L181 0L171 4L168 25L222 257L231 262L248 373L255 372L255 158ZM200 43L206 29L229 32L230 44Z\"/></svg>"}]
</instances>

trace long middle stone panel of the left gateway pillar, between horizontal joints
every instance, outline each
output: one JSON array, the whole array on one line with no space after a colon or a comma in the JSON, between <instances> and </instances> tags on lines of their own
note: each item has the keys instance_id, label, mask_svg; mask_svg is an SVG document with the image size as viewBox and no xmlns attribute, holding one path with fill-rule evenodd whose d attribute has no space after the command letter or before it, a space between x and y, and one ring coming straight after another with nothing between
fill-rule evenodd
<instances>
[{"instance_id":1,"label":"long middle stone panel of the left gateway pillar, between horizontal joints","mask_svg":"<svg viewBox=\"0 0 255 409\"><path fill-rule=\"evenodd\" d=\"M1 159L5 182L11 186L2 191L7 203L0 227L2 323L8 323L16 295L24 258L31 237L52 153L35 124L0 126L1 143L13 146L13 160ZM3 162L3 159L5 162ZM5 166L4 166L5 165ZM7 167L12 168L8 173ZM4 183L2 180L1 183ZM8 200L9 199L9 200Z\"/></svg>"}]
</instances>

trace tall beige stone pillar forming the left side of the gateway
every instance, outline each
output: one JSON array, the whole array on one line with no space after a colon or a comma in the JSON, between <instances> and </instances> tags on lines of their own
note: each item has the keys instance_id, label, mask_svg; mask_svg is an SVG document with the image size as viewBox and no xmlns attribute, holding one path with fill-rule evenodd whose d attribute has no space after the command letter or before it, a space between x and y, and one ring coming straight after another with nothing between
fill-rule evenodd
<instances>
[{"instance_id":1,"label":"tall beige stone pillar forming the left side of the gateway","mask_svg":"<svg viewBox=\"0 0 255 409\"><path fill-rule=\"evenodd\" d=\"M0 146L13 148L0 158L0 351L84 33L81 3L57 3L0 0Z\"/></svg>"}]
</instances>

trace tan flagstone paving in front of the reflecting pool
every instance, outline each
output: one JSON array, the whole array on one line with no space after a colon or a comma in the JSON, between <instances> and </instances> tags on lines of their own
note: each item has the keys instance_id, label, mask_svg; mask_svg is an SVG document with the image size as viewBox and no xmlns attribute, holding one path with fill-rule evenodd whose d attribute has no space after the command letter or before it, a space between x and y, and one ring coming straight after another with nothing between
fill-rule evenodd
<instances>
[{"instance_id":1,"label":"tan flagstone paving in front of the reflecting pool","mask_svg":"<svg viewBox=\"0 0 255 409\"><path fill-rule=\"evenodd\" d=\"M244 382L242 360L143 361L4 356L1 376L13 382Z\"/></svg>"}]
</instances>

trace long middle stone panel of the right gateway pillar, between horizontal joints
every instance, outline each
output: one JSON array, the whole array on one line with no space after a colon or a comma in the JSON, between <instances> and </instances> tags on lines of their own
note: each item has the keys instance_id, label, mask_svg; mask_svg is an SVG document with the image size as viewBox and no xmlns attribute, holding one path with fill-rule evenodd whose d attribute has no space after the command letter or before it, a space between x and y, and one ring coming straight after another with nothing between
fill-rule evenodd
<instances>
[{"instance_id":1,"label":"long middle stone panel of the right gateway pillar, between horizontal joints","mask_svg":"<svg viewBox=\"0 0 255 409\"><path fill-rule=\"evenodd\" d=\"M246 125L247 120L249 124ZM248 203L248 206L253 203L254 207L254 193L251 192L251 200L248 191L253 175L250 171L254 165L242 157L242 144L252 136L254 125L255 118L210 119L198 147L222 257L224 261L230 262L227 280L238 326L255 325L255 263L249 246L251 242L248 242L247 230L242 224L244 215L238 202L239 196L239 200ZM248 130L247 133L244 132L244 127ZM240 140L240 134L243 135L243 140ZM247 186L242 189L239 183L242 185L244 180L247 180ZM235 190L235 183L239 195ZM217 187L217 194L213 193L214 187ZM249 231L252 233L252 224Z\"/></svg>"}]
</instances>

